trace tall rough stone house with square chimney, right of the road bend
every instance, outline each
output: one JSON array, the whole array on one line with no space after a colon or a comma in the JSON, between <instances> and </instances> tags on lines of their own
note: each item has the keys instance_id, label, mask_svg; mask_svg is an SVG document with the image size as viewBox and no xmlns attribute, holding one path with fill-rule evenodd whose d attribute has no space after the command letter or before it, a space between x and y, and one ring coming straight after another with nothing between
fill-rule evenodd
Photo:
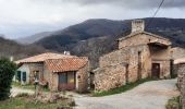
<instances>
[{"instance_id":1,"label":"tall rough stone house with square chimney, right of the road bend","mask_svg":"<svg viewBox=\"0 0 185 109\"><path fill-rule=\"evenodd\" d=\"M108 90L146 77L170 77L171 41L145 32L144 21L133 21L132 33L118 43L118 50L99 59L99 68L94 71L96 90Z\"/></svg>"}]
</instances>

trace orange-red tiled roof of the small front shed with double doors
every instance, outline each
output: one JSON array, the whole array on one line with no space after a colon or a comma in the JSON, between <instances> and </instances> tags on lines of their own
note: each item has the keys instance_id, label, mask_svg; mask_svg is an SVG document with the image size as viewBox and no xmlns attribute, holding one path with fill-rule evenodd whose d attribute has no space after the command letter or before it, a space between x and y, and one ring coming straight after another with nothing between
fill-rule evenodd
<instances>
[{"instance_id":1,"label":"orange-red tiled roof of the small front shed with double doors","mask_svg":"<svg viewBox=\"0 0 185 109\"><path fill-rule=\"evenodd\" d=\"M46 66L51 72L77 71L88 63L88 59L83 58L65 58L49 59L45 61Z\"/></svg>"}]
</instances>

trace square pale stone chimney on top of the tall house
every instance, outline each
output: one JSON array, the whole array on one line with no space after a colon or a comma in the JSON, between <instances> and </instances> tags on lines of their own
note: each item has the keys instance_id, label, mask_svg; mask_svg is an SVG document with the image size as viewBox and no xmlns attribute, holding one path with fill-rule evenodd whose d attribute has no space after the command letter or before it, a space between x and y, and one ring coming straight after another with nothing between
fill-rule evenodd
<instances>
[{"instance_id":1,"label":"square pale stone chimney on top of the tall house","mask_svg":"<svg viewBox=\"0 0 185 109\"><path fill-rule=\"evenodd\" d=\"M132 33L144 32L144 31L145 31L145 21L144 20L132 21Z\"/></svg>"}]
</instances>

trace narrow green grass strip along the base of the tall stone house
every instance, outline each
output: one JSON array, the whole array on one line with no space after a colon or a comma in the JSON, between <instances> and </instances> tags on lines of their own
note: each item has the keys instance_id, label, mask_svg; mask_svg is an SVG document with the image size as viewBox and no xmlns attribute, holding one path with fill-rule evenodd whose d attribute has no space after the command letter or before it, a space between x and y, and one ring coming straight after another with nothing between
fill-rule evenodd
<instances>
[{"instance_id":1,"label":"narrow green grass strip along the base of the tall stone house","mask_svg":"<svg viewBox=\"0 0 185 109\"><path fill-rule=\"evenodd\" d=\"M143 83L149 82L149 81L156 81L156 78L143 78L143 80L139 80L137 82L128 83L124 86L112 88L112 89L107 90L107 92L94 93L92 96L101 97L101 96L108 96L108 95L124 93L126 90L133 89L134 87L138 86L139 84L143 84Z\"/></svg>"}]
</instances>

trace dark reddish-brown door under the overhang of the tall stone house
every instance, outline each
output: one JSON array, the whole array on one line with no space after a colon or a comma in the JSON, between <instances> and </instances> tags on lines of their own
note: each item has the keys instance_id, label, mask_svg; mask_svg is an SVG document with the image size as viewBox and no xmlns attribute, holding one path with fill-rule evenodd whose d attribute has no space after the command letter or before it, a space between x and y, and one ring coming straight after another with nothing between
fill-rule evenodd
<instances>
[{"instance_id":1,"label":"dark reddish-brown door under the overhang of the tall stone house","mask_svg":"<svg viewBox=\"0 0 185 109\"><path fill-rule=\"evenodd\" d=\"M159 78L160 75L160 63L152 63L152 72L151 76L155 78Z\"/></svg>"}]
</instances>

